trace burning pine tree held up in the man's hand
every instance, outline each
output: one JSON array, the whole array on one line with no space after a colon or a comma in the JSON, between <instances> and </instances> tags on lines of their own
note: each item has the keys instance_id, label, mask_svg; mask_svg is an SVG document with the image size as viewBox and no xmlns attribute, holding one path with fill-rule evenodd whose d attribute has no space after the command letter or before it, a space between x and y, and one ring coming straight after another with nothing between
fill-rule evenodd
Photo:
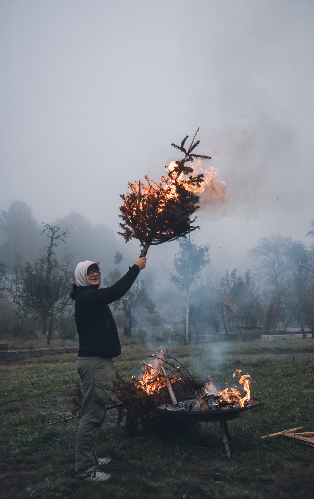
<instances>
[{"instance_id":1,"label":"burning pine tree held up in the man's hand","mask_svg":"<svg viewBox=\"0 0 314 499\"><path fill-rule=\"evenodd\" d=\"M204 175L200 173L193 176L193 168L187 163L193 163L196 158L211 158L194 153L200 143L199 140L195 142L198 131L199 128L188 149L185 149L188 135L180 146L171 144L183 152L185 157L165 166L167 176L161 177L160 184L152 180L152 185L145 175L148 186L140 180L135 184L129 182L132 192L120 196L124 201L124 205L120 207L122 215L119 215L123 220L123 223L119 224L123 232L118 234L123 236L126 243L132 238L138 239L143 247L140 256L146 256L151 245L174 241L199 229L199 226L193 226L196 217L193 220L191 217L200 208L196 206L200 197L195 190L201 187Z\"/></svg>"}]
</instances>

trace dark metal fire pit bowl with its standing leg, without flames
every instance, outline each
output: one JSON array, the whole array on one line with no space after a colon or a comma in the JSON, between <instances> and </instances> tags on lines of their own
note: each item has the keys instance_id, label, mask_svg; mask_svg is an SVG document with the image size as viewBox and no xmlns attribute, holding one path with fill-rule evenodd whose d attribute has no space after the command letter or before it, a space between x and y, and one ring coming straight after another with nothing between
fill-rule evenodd
<instances>
[{"instance_id":1,"label":"dark metal fire pit bowl with its standing leg, without flames","mask_svg":"<svg viewBox=\"0 0 314 499\"><path fill-rule=\"evenodd\" d=\"M174 417L183 419L184 421L205 421L208 423L213 421L219 421L220 431L222 434L222 439L225 446L226 454L228 458L230 458L231 454L228 444L229 432L227 427L227 421L238 418L241 412L248 411L249 409L254 409L260 404L261 401L259 399L253 399L251 397L249 404L246 405L245 407L216 410L216 411L203 411L198 403L198 399L194 398L194 399L179 400L177 406L172 406L171 404L162 404L158 407L158 410L161 413L173 414Z\"/></svg>"}]
</instances>

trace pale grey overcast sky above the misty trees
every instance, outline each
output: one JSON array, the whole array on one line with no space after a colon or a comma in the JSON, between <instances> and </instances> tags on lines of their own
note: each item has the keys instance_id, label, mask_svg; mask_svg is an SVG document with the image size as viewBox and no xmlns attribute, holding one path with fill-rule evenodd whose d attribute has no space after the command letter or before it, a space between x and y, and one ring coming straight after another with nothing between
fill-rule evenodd
<instances>
[{"instance_id":1,"label":"pale grey overcast sky above the misty trees","mask_svg":"<svg viewBox=\"0 0 314 499\"><path fill-rule=\"evenodd\" d=\"M200 126L227 191L198 213L211 268L252 268L271 232L311 244L313 26L303 0L0 0L0 208L117 232L127 181L159 180Z\"/></svg>"}]
</instances>

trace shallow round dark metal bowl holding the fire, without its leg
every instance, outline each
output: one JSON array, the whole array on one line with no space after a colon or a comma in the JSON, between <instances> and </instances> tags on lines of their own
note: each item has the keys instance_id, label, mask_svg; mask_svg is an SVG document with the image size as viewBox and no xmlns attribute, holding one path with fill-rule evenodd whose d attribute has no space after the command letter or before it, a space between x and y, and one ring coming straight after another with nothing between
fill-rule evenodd
<instances>
[{"instance_id":1,"label":"shallow round dark metal bowl holding the fire, without its leg","mask_svg":"<svg viewBox=\"0 0 314 499\"><path fill-rule=\"evenodd\" d=\"M185 399L182 402L189 402L195 399ZM159 411L164 414L174 414L179 419L183 419L184 421L229 421L230 419L236 419L239 417L240 412L248 411L249 409L254 409L261 405L261 401L259 399L250 398L251 405L248 407L239 407L238 409L229 409L224 411L169 411L168 409L161 409L158 407Z\"/></svg>"}]
</instances>

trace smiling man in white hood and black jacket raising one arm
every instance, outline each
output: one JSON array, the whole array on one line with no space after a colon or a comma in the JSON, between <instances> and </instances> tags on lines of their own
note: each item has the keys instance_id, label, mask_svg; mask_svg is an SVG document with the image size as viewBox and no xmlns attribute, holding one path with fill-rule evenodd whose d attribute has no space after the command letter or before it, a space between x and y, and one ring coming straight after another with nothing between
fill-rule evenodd
<instances>
[{"instance_id":1,"label":"smiling man in white hood and black jacket raising one arm","mask_svg":"<svg viewBox=\"0 0 314 499\"><path fill-rule=\"evenodd\" d=\"M145 265L145 257L136 258L128 272L107 288L101 288L101 271L95 261L80 262L75 269L77 285L73 284L71 298L75 300L75 322L80 342L77 369L83 392L75 468L80 476L88 480L103 481L110 477L97 471L109 459L98 459L95 454L98 431L103 424L113 381L112 357L121 353L118 332L108 304L130 289Z\"/></svg>"}]
</instances>

